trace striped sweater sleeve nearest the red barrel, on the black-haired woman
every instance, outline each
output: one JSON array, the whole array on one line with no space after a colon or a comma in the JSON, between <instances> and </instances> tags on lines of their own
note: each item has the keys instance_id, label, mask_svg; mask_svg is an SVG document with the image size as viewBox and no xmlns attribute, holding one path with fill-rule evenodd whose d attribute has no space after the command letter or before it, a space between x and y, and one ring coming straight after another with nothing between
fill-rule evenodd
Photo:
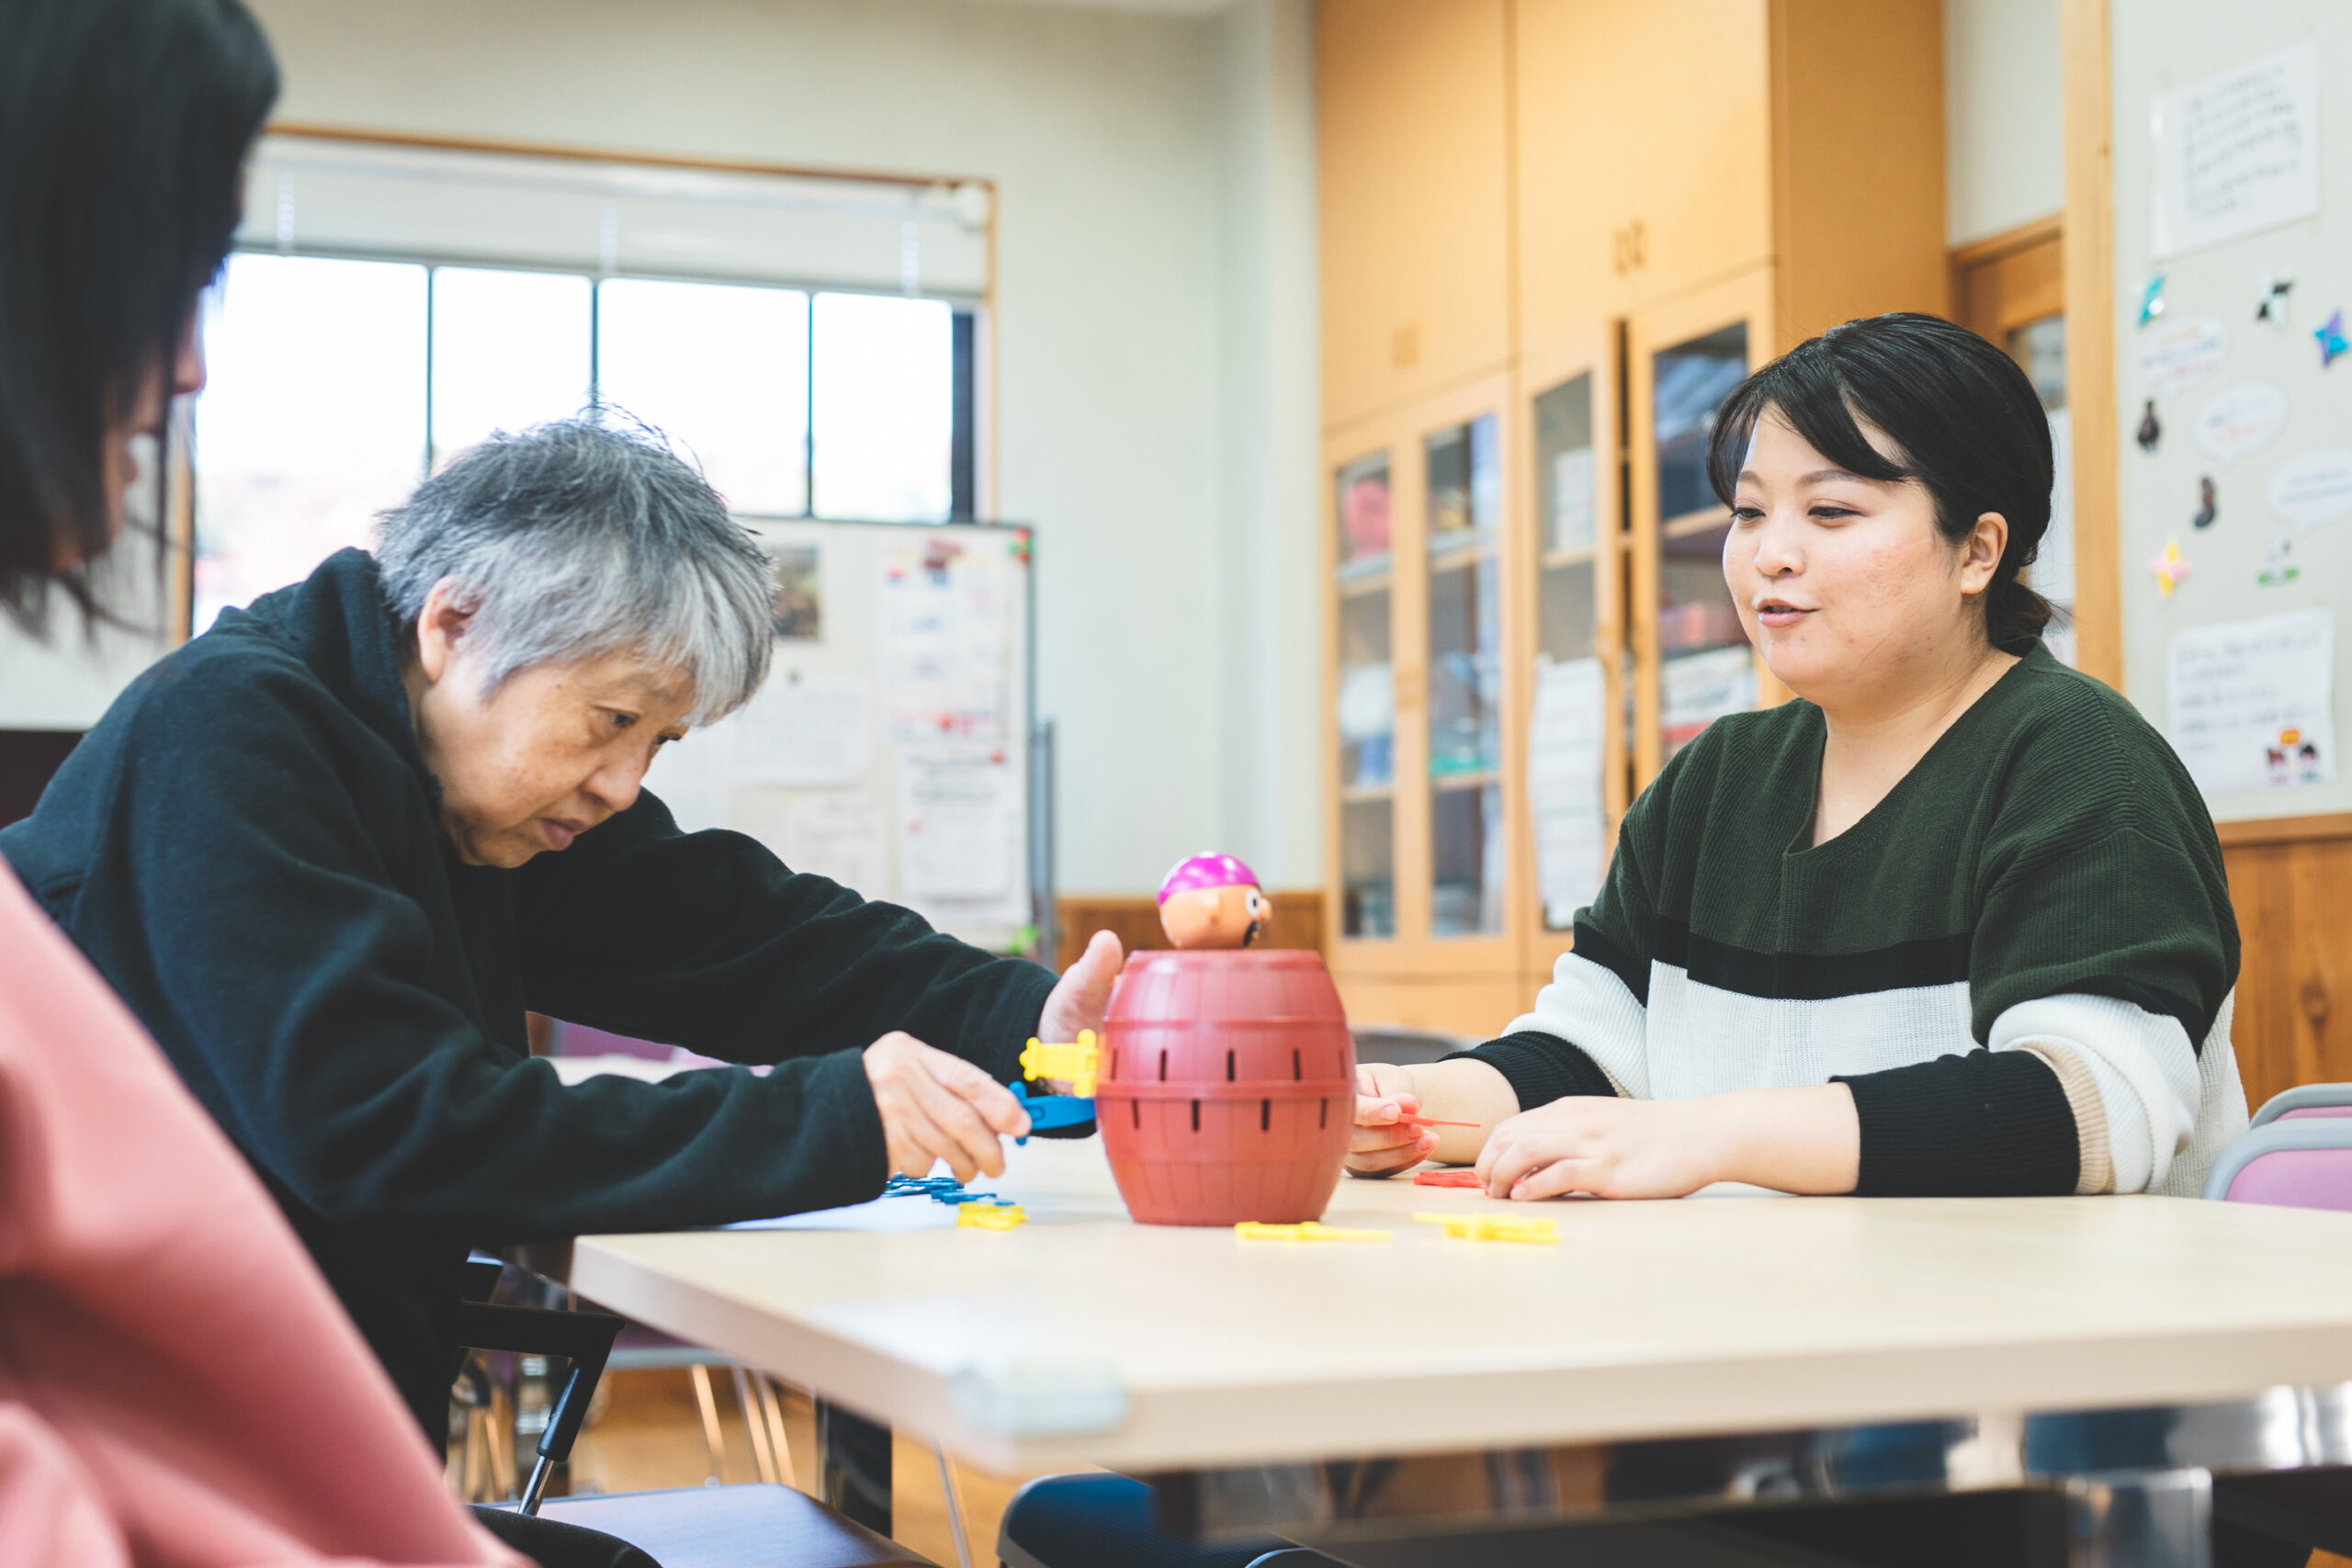
<instances>
[{"instance_id":1,"label":"striped sweater sleeve nearest the red barrel, on the black-haired woman","mask_svg":"<svg viewBox=\"0 0 2352 1568\"><path fill-rule=\"evenodd\" d=\"M1536 1006L1501 1037L1454 1053L1501 1072L1519 1110L1566 1095L1649 1095L1651 898L1642 856L1661 816L1656 795L1625 813L1602 891L1576 912L1576 947L1552 964Z\"/></svg>"}]
</instances>

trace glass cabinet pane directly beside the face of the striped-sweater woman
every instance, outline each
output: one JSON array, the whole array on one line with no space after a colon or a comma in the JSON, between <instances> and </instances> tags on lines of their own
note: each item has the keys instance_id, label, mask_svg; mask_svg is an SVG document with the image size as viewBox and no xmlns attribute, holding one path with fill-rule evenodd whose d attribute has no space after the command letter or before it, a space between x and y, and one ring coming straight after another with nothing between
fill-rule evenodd
<instances>
[{"instance_id":1,"label":"glass cabinet pane directly beside the face of the striped-sweater woman","mask_svg":"<svg viewBox=\"0 0 2352 1568\"><path fill-rule=\"evenodd\" d=\"M1745 322L1651 355L1661 764L1722 715L1757 703L1755 654L1724 588L1729 508L1708 484L1715 411L1745 376Z\"/></svg>"}]
</instances>

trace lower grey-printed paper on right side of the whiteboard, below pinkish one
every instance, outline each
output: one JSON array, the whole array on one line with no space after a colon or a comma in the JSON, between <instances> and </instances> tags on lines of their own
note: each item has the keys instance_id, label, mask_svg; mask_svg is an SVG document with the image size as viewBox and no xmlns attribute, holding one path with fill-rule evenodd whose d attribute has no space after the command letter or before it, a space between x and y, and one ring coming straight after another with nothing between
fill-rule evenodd
<instances>
[{"instance_id":1,"label":"lower grey-printed paper on right side of the whiteboard, below pinkish one","mask_svg":"<svg viewBox=\"0 0 2352 1568\"><path fill-rule=\"evenodd\" d=\"M924 912L1025 919L1021 776L1004 752L898 757L898 891Z\"/></svg>"}]
</instances>

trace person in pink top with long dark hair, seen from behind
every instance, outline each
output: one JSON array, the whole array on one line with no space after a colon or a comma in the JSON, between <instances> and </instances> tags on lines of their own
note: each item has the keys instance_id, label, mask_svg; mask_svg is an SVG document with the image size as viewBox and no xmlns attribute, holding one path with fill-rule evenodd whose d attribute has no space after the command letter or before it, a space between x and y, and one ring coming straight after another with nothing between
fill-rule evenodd
<instances>
[{"instance_id":1,"label":"person in pink top with long dark hair, seen from behind","mask_svg":"<svg viewBox=\"0 0 2352 1568\"><path fill-rule=\"evenodd\" d=\"M275 94L235 0L0 5L0 609L28 630L59 590L92 604L132 442L202 383L195 299ZM0 870L0 1563L325 1561L522 1563L442 1488L238 1150Z\"/></svg>"}]
</instances>

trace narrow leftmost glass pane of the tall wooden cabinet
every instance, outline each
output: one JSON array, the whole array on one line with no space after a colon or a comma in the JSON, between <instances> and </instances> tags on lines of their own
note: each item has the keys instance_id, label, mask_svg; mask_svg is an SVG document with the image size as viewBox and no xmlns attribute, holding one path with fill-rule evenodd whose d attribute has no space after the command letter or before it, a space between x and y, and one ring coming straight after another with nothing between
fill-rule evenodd
<instances>
[{"instance_id":1,"label":"narrow leftmost glass pane of the tall wooden cabinet","mask_svg":"<svg viewBox=\"0 0 2352 1568\"><path fill-rule=\"evenodd\" d=\"M1341 936L1397 933L1397 677L1390 658L1388 454L1343 465L1338 517Z\"/></svg>"}]
</instances>

